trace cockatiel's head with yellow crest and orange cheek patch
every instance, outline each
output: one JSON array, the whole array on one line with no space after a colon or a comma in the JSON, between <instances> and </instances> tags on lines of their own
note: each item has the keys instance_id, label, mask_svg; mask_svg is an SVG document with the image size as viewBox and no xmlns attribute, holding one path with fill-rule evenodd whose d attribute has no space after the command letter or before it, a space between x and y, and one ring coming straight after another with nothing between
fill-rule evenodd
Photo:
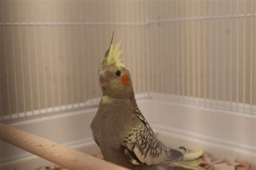
<instances>
[{"instance_id":1,"label":"cockatiel's head with yellow crest and orange cheek patch","mask_svg":"<svg viewBox=\"0 0 256 170\"><path fill-rule=\"evenodd\" d=\"M126 66L120 62L120 42L112 45L113 34L102 62L99 66L99 85L103 96L112 98L131 98L133 94L131 75Z\"/></svg>"}]
</instances>

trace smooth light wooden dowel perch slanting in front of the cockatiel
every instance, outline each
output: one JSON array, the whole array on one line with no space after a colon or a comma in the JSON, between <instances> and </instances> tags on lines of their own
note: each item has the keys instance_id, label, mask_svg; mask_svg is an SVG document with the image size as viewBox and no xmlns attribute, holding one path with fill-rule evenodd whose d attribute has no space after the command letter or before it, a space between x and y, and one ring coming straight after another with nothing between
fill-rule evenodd
<instances>
[{"instance_id":1,"label":"smooth light wooden dowel perch slanting in front of the cockatiel","mask_svg":"<svg viewBox=\"0 0 256 170\"><path fill-rule=\"evenodd\" d=\"M0 140L68 169L126 169L2 123Z\"/></svg>"}]
</instances>

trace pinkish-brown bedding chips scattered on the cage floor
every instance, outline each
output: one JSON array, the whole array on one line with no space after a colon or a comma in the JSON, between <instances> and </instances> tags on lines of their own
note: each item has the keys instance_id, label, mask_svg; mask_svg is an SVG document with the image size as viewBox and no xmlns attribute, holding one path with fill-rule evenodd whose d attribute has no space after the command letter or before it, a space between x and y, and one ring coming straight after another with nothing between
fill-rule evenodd
<instances>
[{"instance_id":1,"label":"pinkish-brown bedding chips scattered on the cage floor","mask_svg":"<svg viewBox=\"0 0 256 170\"><path fill-rule=\"evenodd\" d=\"M98 153L94 156L99 159L104 159L102 153ZM205 152L203 156L200 158L200 162L201 162L201 165L203 165L207 170L256 170L255 165L251 165L244 160L239 160L230 155L223 155L218 159L213 159L210 153ZM58 165L53 165L51 167L38 168L38 170L69 170L69 169L62 168Z\"/></svg>"}]
</instances>

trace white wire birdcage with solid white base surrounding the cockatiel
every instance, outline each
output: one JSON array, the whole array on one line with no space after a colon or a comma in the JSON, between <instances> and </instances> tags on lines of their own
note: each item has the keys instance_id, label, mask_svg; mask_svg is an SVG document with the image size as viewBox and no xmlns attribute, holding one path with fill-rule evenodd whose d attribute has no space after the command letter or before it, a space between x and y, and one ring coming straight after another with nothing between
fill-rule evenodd
<instances>
[{"instance_id":1,"label":"white wire birdcage with solid white base surrounding the cockatiel","mask_svg":"<svg viewBox=\"0 0 256 170\"><path fill-rule=\"evenodd\" d=\"M94 154L98 67L120 42L169 146L256 159L255 0L0 1L0 121ZM1 131L1 129L0 129ZM0 141L0 169L52 164Z\"/></svg>"}]
</instances>

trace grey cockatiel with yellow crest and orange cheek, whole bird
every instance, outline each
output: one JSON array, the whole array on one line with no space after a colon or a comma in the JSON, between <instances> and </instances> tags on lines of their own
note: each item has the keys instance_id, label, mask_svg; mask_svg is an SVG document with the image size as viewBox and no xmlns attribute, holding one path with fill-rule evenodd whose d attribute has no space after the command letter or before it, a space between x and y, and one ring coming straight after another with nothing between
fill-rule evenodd
<instances>
[{"instance_id":1,"label":"grey cockatiel with yellow crest and orange cheek, whole bird","mask_svg":"<svg viewBox=\"0 0 256 170\"><path fill-rule=\"evenodd\" d=\"M119 44L112 39L99 68L102 98L91 123L93 138L104 158L130 169L175 169L168 166L183 153L156 137L134 98L131 75L120 62ZM177 168L178 169L178 168Z\"/></svg>"}]
</instances>

